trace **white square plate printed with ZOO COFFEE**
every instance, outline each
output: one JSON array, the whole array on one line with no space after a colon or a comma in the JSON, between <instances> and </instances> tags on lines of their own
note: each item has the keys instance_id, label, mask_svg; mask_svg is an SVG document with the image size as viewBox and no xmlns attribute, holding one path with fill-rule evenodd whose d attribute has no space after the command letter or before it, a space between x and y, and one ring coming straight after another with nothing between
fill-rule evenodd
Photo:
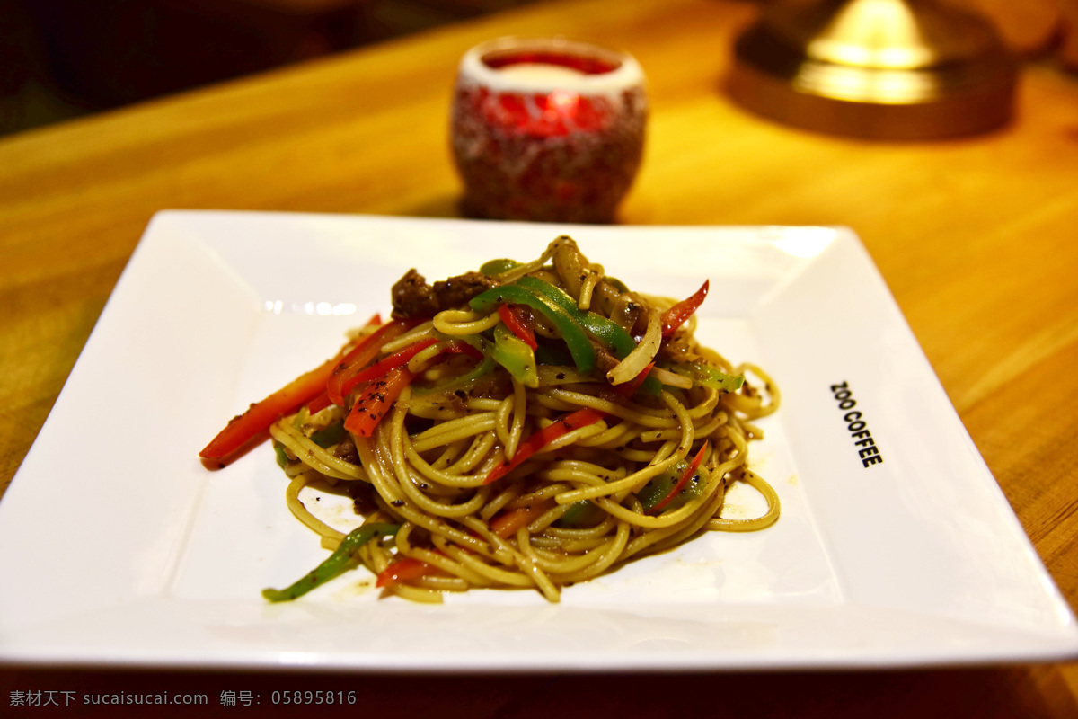
<instances>
[{"instance_id":1,"label":"white square plate printed with ZOO COFFEE","mask_svg":"<svg viewBox=\"0 0 1078 719\"><path fill-rule=\"evenodd\" d=\"M563 232L644 292L685 296L710 278L697 333L783 390L750 451L778 523L708 534L559 605L482 591L420 606L379 598L363 569L266 604L263 587L326 552L286 509L268 446L219 472L197 452L385 314L409 267L438 279L531 259ZM0 502L0 548L5 662L469 672L1078 655L1066 603L843 229L162 212Z\"/></svg>"}]
</instances>

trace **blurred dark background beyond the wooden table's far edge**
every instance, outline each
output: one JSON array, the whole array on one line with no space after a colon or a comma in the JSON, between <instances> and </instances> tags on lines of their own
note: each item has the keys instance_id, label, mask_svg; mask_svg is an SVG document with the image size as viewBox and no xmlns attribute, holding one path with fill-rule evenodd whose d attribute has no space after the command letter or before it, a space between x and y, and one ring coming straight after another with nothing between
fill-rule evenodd
<instances>
[{"instance_id":1,"label":"blurred dark background beyond the wooden table's far edge","mask_svg":"<svg viewBox=\"0 0 1078 719\"><path fill-rule=\"evenodd\" d=\"M538 1L0 0L0 135ZM1078 68L1078 0L942 1Z\"/></svg>"}]
</instances>

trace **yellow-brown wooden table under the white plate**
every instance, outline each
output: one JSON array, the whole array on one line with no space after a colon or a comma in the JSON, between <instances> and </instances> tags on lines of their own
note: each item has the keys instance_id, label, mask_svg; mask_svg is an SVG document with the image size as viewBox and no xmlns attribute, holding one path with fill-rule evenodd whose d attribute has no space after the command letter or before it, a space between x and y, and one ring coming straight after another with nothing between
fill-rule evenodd
<instances>
[{"instance_id":1,"label":"yellow-brown wooden table under the white plate","mask_svg":"<svg viewBox=\"0 0 1078 719\"><path fill-rule=\"evenodd\" d=\"M634 53L650 82L624 223L846 224L863 238L997 481L1078 608L1078 78L1028 67L1017 121L890 144L769 123L719 91L751 8L540 3L264 77L0 140L0 482L6 486L150 217L225 208L454 217L454 70L505 33ZM32 538L28 538L32 541ZM2 551L17 551L3 548ZM1078 666L779 676L298 679L367 709L523 718L1078 715ZM132 682L139 682L133 685ZM264 690L279 677L29 670L9 691ZM288 683L288 682L285 682ZM295 683L295 682L293 682ZM237 707L236 710L239 710Z\"/></svg>"}]
</instances>

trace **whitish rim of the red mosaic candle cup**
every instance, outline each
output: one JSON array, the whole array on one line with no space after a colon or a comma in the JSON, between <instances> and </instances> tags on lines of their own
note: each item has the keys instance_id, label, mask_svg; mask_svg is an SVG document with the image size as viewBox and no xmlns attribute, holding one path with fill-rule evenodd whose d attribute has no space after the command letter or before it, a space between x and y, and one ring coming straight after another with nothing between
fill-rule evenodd
<instances>
[{"instance_id":1,"label":"whitish rim of the red mosaic candle cup","mask_svg":"<svg viewBox=\"0 0 1078 719\"><path fill-rule=\"evenodd\" d=\"M567 52L599 57L617 63L618 66L609 72L581 74L579 78L552 81L533 77L507 77L506 73L483 61L492 53L510 50ZM582 95L596 95L619 93L641 85L644 70L636 58L627 52L593 42L569 40L563 36L505 36L470 47L460 58L458 78L461 83L470 82L496 92L550 93L555 89L569 89Z\"/></svg>"}]
</instances>

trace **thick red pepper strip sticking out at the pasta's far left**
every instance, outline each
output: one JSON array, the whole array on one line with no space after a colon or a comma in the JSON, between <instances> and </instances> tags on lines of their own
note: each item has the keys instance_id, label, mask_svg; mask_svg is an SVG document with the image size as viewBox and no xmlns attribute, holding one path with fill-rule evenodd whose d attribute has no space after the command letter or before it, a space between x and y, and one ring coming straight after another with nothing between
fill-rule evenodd
<instances>
[{"instance_id":1,"label":"thick red pepper strip sticking out at the pasta's far left","mask_svg":"<svg viewBox=\"0 0 1078 719\"><path fill-rule=\"evenodd\" d=\"M244 448L248 442L266 432L279 418L293 414L326 389L326 382L338 358L327 360L320 367L296 377L285 387L255 402L247 412L233 417L206 447L198 453L203 459L216 460L224 467L225 459Z\"/></svg>"}]
</instances>

